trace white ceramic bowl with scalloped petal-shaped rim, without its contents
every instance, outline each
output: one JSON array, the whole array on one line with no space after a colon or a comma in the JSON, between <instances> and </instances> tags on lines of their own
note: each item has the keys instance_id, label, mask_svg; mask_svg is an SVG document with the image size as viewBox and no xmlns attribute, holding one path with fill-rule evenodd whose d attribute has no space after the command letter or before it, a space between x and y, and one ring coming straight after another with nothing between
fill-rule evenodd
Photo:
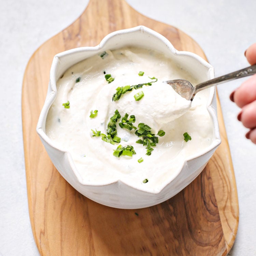
<instances>
[{"instance_id":1,"label":"white ceramic bowl with scalloped petal-shaped rim, without its contents","mask_svg":"<svg viewBox=\"0 0 256 256\"><path fill-rule=\"evenodd\" d=\"M156 205L179 193L203 170L217 146L221 143L221 139L216 114L215 89L211 88L207 108L213 120L213 143L196 157L186 159L182 169L178 170L176 175L170 176L167 183L157 193L150 193L146 189L140 190L132 187L120 179L104 185L85 184L76 170L70 153L57 148L45 133L47 113L57 95L56 81L75 63L107 49L116 49L124 46L146 47L163 54L171 54L174 61L184 69L189 70L190 73L193 73L200 81L214 77L213 67L209 63L193 53L177 51L165 37L151 29L138 26L116 31L107 35L95 47L75 48L59 53L54 57L50 71L48 93L39 117L37 132L57 170L77 191L91 200L110 207L138 209Z\"/></svg>"}]
</instances>

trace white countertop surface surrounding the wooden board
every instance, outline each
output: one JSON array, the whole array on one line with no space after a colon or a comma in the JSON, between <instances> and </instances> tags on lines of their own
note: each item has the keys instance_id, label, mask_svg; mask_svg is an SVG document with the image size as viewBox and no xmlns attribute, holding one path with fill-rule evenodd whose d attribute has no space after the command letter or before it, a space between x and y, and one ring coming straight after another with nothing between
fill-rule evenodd
<instances>
[{"instance_id":1,"label":"white countertop surface surrounding the wooden board","mask_svg":"<svg viewBox=\"0 0 256 256\"><path fill-rule=\"evenodd\" d=\"M127 2L142 14L190 35L204 50L216 76L248 66L244 51L256 42L256 1ZM87 4L88 0L1 1L0 256L39 255L28 214L22 138L21 91L27 62L42 43L79 17ZM256 145L245 139L246 129L237 120L239 109L229 100L241 82L219 85L218 93L240 209L237 238L229 255L251 256L256 255Z\"/></svg>"}]
</instances>

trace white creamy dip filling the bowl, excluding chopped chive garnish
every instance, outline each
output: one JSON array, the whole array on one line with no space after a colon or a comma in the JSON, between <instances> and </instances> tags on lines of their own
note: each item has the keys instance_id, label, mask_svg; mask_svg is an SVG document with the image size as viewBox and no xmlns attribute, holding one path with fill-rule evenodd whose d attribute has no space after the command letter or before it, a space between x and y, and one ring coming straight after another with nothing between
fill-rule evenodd
<instances>
[{"instance_id":1,"label":"white creamy dip filling the bowl, excluding chopped chive garnish","mask_svg":"<svg viewBox=\"0 0 256 256\"><path fill-rule=\"evenodd\" d=\"M143 76L138 75L140 71ZM108 83L105 74L111 74L114 81ZM84 183L100 185L122 180L157 193L170 175L179 173L185 159L199 155L213 140L213 124L206 107L208 90L198 93L191 104L164 83L171 79L197 82L171 59L147 49L122 48L106 51L103 57L90 57L69 68L57 81L58 93L47 115L46 134L56 147L71 154ZM117 87L144 83L151 85L112 100ZM144 97L136 101L134 95L140 91ZM65 108L62 104L68 101L70 107ZM90 118L95 110L97 116ZM91 129L106 134L115 110L121 116L116 123L116 136L121 141L113 145L101 136L93 137ZM135 134L137 129L129 131L118 125L126 113L135 116L133 126L139 129L138 124L144 123L158 137L151 155L146 155L145 146L136 143L141 139ZM159 130L165 135L159 137ZM191 136L188 142L184 141L185 132ZM136 154L115 157L113 152L119 144L132 145ZM142 162L138 162L140 158ZM147 183L143 183L145 179Z\"/></svg>"}]
</instances>

